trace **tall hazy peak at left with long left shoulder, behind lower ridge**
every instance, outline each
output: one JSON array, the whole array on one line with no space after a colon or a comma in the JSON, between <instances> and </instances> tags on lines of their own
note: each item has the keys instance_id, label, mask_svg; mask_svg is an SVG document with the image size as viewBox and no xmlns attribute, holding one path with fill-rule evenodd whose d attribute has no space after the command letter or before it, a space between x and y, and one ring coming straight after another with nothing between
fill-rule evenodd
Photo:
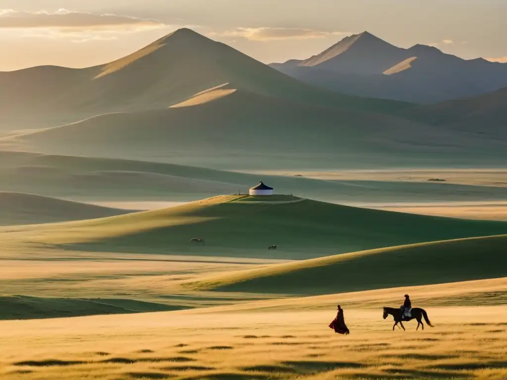
<instances>
[{"instance_id":1,"label":"tall hazy peak at left with long left shoulder, behind lower ridge","mask_svg":"<svg viewBox=\"0 0 507 380\"><path fill-rule=\"evenodd\" d=\"M390 112L403 103L340 95L308 86L190 29L179 29L114 62L0 72L1 119L167 108L216 86L317 105ZM1 120L0 120L1 122Z\"/></svg>"}]
</instances>

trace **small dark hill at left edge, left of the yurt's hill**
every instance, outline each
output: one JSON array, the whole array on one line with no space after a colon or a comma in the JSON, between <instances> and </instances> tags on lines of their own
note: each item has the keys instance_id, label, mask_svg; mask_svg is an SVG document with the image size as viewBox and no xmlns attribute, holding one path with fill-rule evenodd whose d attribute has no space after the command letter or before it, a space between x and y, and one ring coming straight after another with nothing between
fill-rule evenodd
<instances>
[{"instance_id":1,"label":"small dark hill at left edge, left of the yurt's hill","mask_svg":"<svg viewBox=\"0 0 507 380\"><path fill-rule=\"evenodd\" d=\"M0 192L0 225L104 218L128 212L31 194Z\"/></svg>"}]
</instances>

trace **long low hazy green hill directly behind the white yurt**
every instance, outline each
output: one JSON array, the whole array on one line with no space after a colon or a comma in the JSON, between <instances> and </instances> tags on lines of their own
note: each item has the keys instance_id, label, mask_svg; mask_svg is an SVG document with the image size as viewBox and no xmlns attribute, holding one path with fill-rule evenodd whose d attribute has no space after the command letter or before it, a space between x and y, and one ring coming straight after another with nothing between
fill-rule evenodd
<instances>
[{"instance_id":1,"label":"long low hazy green hill directly behind the white yurt","mask_svg":"<svg viewBox=\"0 0 507 380\"><path fill-rule=\"evenodd\" d=\"M270 165L278 162L269 157L265 160ZM261 179L274 187L278 194L332 202L477 202L507 199L507 187L430 183L424 180L429 177L422 177L417 182L383 181L377 177L366 180L368 176L360 180L261 177L259 174L196 166L6 151L0 151L0 161L3 164L0 166L0 191L81 201L193 201L217 194L234 194L238 189L245 193ZM257 165L258 162L254 160L252 164Z\"/></svg>"}]
</instances>

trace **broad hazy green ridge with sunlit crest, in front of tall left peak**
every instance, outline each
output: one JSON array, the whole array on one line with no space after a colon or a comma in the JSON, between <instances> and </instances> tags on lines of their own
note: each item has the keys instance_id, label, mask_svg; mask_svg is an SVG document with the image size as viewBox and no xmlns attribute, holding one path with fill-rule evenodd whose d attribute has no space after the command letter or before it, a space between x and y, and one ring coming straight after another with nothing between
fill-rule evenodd
<instances>
[{"instance_id":1,"label":"broad hazy green ridge with sunlit crest, in front of tall left peak","mask_svg":"<svg viewBox=\"0 0 507 380\"><path fill-rule=\"evenodd\" d=\"M480 135L232 89L211 90L170 108L108 113L24 132L0 139L0 146L214 167L233 161L239 168L285 165L279 160L300 167L333 160L351 168L401 161L415 166L507 162L504 146Z\"/></svg>"}]
</instances>

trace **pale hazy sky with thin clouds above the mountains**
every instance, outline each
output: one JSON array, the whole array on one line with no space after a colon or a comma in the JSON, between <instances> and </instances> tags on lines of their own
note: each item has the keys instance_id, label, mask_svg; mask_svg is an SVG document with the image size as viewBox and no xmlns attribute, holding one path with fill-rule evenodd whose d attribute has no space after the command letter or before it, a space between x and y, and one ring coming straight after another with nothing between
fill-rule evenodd
<instances>
[{"instance_id":1,"label":"pale hazy sky with thin clouds above the mountains","mask_svg":"<svg viewBox=\"0 0 507 380\"><path fill-rule=\"evenodd\" d=\"M190 27L262 62L308 58L369 31L507 62L507 0L0 0L0 70L85 67Z\"/></svg>"}]
</instances>

